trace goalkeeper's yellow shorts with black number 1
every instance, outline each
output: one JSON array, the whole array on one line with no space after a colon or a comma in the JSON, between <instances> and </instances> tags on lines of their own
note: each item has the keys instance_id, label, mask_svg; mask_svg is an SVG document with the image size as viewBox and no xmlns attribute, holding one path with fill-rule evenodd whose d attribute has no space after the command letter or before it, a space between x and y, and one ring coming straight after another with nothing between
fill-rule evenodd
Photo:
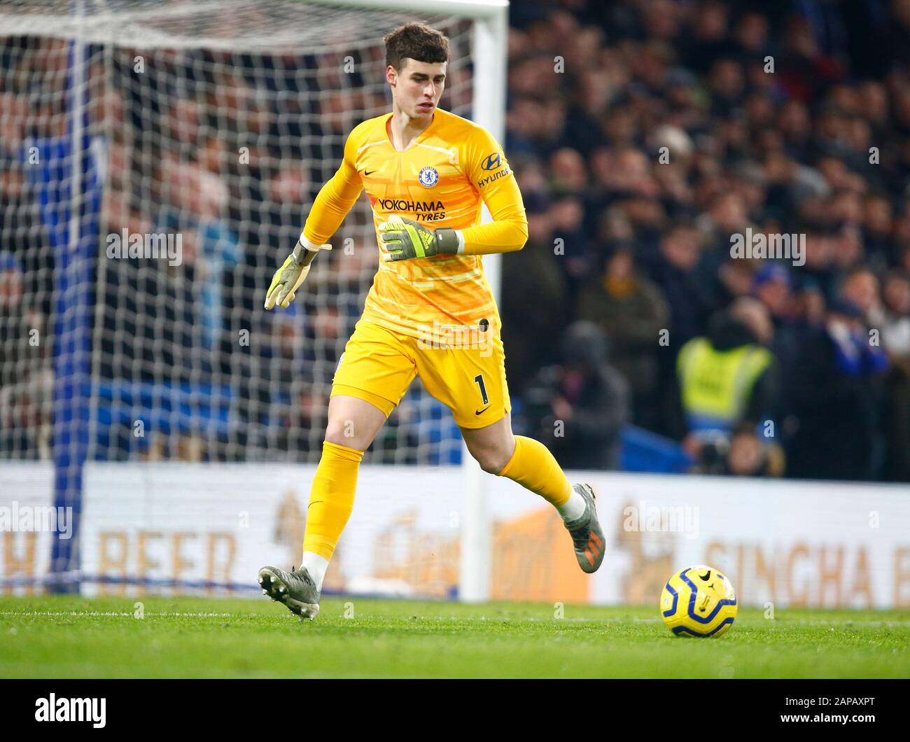
<instances>
[{"instance_id":1,"label":"goalkeeper's yellow shorts with black number 1","mask_svg":"<svg viewBox=\"0 0 910 742\"><path fill-rule=\"evenodd\" d=\"M415 376L462 428L485 428L511 412L498 330L439 330L414 338L358 321L329 396L369 401L389 417Z\"/></svg>"}]
</instances>

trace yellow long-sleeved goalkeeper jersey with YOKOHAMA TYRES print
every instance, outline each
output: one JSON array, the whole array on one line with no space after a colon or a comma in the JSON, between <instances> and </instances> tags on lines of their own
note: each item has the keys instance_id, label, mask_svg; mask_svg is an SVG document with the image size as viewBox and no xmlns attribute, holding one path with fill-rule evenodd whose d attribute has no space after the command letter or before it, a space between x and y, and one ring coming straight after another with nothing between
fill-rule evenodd
<instances>
[{"instance_id":1,"label":"yellow long-sleeved goalkeeper jersey with YOKOHAMA TYRES print","mask_svg":"<svg viewBox=\"0 0 910 742\"><path fill-rule=\"evenodd\" d=\"M480 256L521 249L528 236L505 153L483 127L439 108L430 126L399 152L389 138L391 116L370 118L351 131L341 166L319 191L304 234L317 244L329 241L361 190L369 196L380 251L379 224L393 215L430 229L460 229L462 254L380 259L363 319L412 337L476 328L481 320L498 331L499 311ZM481 203L493 219L483 225Z\"/></svg>"}]
</instances>

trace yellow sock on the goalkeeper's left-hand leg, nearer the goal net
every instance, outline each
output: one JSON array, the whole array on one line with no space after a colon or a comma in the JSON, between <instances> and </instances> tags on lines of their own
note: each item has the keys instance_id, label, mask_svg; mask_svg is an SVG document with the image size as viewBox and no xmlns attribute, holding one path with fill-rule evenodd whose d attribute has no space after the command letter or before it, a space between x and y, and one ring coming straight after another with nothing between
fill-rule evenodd
<instances>
[{"instance_id":1,"label":"yellow sock on the goalkeeper's left-hand leg, nearer the goal net","mask_svg":"<svg viewBox=\"0 0 910 742\"><path fill-rule=\"evenodd\" d=\"M354 509L354 491L363 452L322 442L322 456L309 491L303 550L331 559Z\"/></svg>"}]
</instances>

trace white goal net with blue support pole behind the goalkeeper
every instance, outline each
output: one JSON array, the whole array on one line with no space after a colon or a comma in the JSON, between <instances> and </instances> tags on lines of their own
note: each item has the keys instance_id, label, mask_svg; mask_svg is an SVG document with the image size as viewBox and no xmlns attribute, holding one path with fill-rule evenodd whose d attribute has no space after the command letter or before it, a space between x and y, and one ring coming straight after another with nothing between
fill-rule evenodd
<instances>
[{"instance_id":1,"label":"white goal net with blue support pole behind the goalkeeper","mask_svg":"<svg viewBox=\"0 0 910 742\"><path fill-rule=\"evenodd\" d=\"M293 306L263 301L350 129L389 110L382 36L449 36L440 106L476 113L474 22L371 5L0 0L6 483L49 462L77 518L86 462L318 462L377 268L366 198ZM461 445L417 382L364 461Z\"/></svg>"}]
</instances>

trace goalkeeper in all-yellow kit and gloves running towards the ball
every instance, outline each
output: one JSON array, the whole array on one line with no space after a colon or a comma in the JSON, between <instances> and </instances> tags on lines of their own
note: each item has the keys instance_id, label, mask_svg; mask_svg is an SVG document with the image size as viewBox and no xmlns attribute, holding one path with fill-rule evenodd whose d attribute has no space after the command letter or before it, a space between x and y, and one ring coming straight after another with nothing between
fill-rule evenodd
<instances>
[{"instance_id":1,"label":"goalkeeper in all-yellow kit and gloves running towards the ball","mask_svg":"<svg viewBox=\"0 0 910 742\"><path fill-rule=\"evenodd\" d=\"M591 487L571 484L541 442L511 430L501 320L480 256L520 250L528 238L515 176L486 130L437 107L448 39L411 23L385 43L392 111L351 131L338 171L319 191L266 295L267 310L288 307L310 261L329 249L329 238L366 190L381 259L332 380L303 561L291 573L272 566L259 571L263 592L301 620L319 612L363 452L415 375L450 408L485 472L520 483L556 508L584 572L594 572L604 554ZM481 203L490 223L480 224Z\"/></svg>"}]
</instances>

